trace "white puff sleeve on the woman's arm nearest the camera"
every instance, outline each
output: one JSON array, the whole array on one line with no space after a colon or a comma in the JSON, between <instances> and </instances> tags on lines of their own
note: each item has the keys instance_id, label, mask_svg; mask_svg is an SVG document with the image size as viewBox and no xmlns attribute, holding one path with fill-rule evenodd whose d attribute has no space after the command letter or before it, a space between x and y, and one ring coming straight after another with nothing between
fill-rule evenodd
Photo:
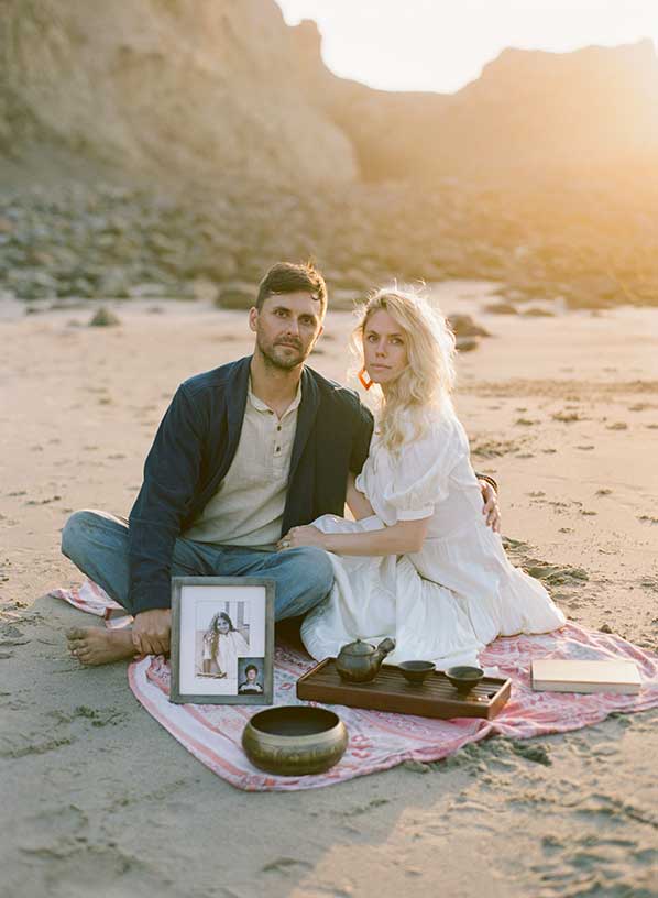
<instances>
[{"instance_id":1,"label":"white puff sleeve on the woman's arm nearest the camera","mask_svg":"<svg viewBox=\"0 0 658 898\"><path fill-rule=\"evenodd\" d=\"M450 473L459 459L468 455L468 443L454 419L431 420L425 432L405 442L392 466L392 479L384 491L385 501L395 508L398 521L430 517L435 507L448 497Z\"/></svg>"}]
</instances>

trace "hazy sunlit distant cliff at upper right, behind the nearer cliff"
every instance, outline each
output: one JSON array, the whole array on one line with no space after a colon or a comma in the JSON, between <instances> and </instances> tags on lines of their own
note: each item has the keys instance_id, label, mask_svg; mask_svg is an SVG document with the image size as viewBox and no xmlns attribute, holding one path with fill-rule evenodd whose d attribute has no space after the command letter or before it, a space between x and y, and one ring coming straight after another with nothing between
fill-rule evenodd
<instances>
[{"instance_id":1,"label":"hazy sunlit distant cliff at upper right, behind the nearer cliff","mask_svg":"<svg viewBox=\"0 0 658 898\"><path fill-rule=\"evenodd\" d=\"M530 176L658 162L658 56L651 41L572 53L506 50L453 95L386 92L332 77L314 23L299 59L369 180Z\"/></svg>"}]
</instances>

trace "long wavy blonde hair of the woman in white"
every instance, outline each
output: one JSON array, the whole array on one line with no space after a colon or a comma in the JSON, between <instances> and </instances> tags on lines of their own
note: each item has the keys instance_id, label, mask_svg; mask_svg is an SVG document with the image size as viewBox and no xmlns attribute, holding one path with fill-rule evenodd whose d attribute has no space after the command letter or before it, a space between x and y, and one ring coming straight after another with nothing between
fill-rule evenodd
<instances>
[{"instance_id":1,"label":"long wavy blonde hair of the woman in white","mask_svg":"<svg viewBox=\"0 0 658 898\"><path fill-rule=\"evenodd\" d=\"M359 370L363 368L363 335L369 318L387 311L405 336L408 364L382 394L379 432L387 449L396 451L405 440L405 420L410 413L415 437L425 429L428 408L452 412L450 393L454 386L454 335L443 315L415 289L383 287L373 293L359 310L352 332L352 351ZM408 425L407 425L408 426Z\"/></svg>"}]
</instances>

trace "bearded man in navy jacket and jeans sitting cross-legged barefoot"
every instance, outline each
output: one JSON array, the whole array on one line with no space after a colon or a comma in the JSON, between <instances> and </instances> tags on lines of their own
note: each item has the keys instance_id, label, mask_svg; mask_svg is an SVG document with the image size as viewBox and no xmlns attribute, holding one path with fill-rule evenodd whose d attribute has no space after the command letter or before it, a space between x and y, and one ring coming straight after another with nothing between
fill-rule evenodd
<instances>
[{"instance_id":1,"label":"bearded man in navy jacket and jeans sitting cross-legged barefoot","mask_svg":"<svg viewBox=\"0 0 658 898\"><path fill-rule=\"evenodd\" d=\"M129 521L91 511L68 519L64 555L135 618L130 632L70 631L83 664L167 653L173 576L272 578L279 621L330 591L322 549L275 551L290 527L343 514L348 472L361 470L372 435L357 395L305 366L326 308L311 265L274 265L249 313L253 355L178 387ZM495 492L484 484L483 494L495 524Z\"/></svg>"}]
</instances>

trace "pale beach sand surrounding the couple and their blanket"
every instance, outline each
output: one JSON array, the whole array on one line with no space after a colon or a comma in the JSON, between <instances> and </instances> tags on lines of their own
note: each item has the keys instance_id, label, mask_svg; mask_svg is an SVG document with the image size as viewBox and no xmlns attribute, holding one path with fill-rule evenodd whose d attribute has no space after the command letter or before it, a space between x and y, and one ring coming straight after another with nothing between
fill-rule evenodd
<instances>
[{"instance_id":1,"label":"pale beach sand surrounding the couple and their blanket","mask_svg":"<svg viewBox=\"0 0 658 898\"><path fill-rule=\"evenodd\" d=\"M500 316L491 289L436 292L493 335L460 360L458 408L514 557L570 618L656 649L658 310ZM120 327L86 327L89 308L0 321L0 896L658 895L656 712L250 795L149 716L124 665L68 657L89 621L46 595L79 582L67 514L128 514L179 381L251 347L241 313L113 308ZM342 379L349 327L329 316L322 373Z\"/></svg>"}]
</instances>

